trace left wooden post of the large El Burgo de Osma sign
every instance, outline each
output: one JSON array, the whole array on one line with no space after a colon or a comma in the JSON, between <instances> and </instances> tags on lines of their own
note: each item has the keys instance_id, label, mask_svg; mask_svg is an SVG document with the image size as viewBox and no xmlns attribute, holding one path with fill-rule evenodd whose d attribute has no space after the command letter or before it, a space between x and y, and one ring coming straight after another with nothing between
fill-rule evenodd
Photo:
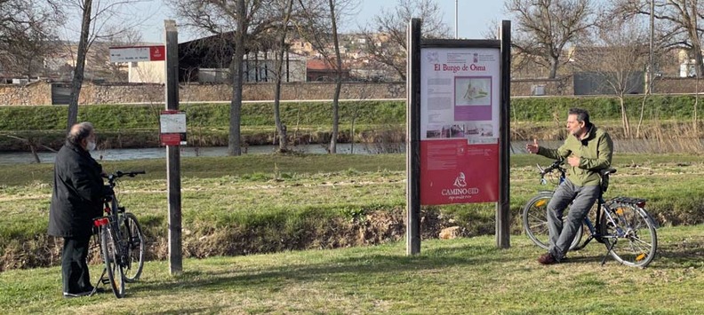
<instances>
[{"instance_id":1,"label":"left wooden post of the large El Burgo de Osma sign","mask_svg":"<svg viewBox=\"0 0 704 315\"><path fill-rule=\"evenodd\" d=\"M406 79L406 255L420 253L420 19L408 24Z\"/></svg>"}]
</instances>

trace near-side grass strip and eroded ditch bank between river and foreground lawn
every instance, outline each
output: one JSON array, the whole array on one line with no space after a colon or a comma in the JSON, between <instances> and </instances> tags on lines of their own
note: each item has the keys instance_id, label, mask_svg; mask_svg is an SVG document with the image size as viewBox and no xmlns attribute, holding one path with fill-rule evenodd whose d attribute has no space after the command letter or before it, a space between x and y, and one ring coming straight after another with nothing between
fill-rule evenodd
<instances>
[{"instance_id":1,"label":"near-side grass strip and eroded ditch bank between river and foreground lawn","mask_svg":"<svg viewBox=\"0 0 704 315\"><path fill-rule=\"evenodd\" d=\"M521 232L524 202L541 189L534 155L511 159L511 229ZM648 199L662 226L704 223L704 161L697 155L617 154L607 196ZM167 237L163 160L106 161L107 170L146 169L118 189L147 232L150 258ZM182 161L186 256L242 255L384 243L404 235L404 155L256 155ZM60 247L45 236L52 165L0 166L0 267L55 265ZM424 238L460 226L492 234L493 204L423 209Z\"/></svg>"}]
</instances>

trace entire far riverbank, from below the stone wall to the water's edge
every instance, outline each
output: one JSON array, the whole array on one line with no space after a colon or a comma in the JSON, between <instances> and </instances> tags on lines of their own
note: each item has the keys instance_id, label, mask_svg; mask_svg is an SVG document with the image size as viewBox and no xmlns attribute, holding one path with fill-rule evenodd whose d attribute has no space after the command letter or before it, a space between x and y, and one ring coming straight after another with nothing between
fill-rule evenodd
<instances>
[{"instance_id":1,"label":"entire far riverbank, from below the stone wall to the water's edge","mask_svg":"<svg viewBox=\"0 0 704 315\"><path fill-rule=\"evenodd\" d=\"M626 98L632 135L636 136L642 97ZM652 96L644 107L641 138L667 148L683 138L700 138L704 127L692 123L691 96ZM613 138L625 138L616 98L515 98L511 108L511 138L564 138L564 115L572 106L587 108ZM99 147L158 146L161 105L80 106L79 121L93 122L100 131ZM229 105L186 104L190 146L227 146ZM28 151L27 144L6 135L58 148L66 128L65 106L0 106L0 150ZM242 138L247 145L271 144L275 138L273 106L246 103L242 108ZM323 143L330 138L331 105L327 102L284 103L281 117L296 143ZM700 123L698 123L699 125ZM340 103L340 142L401 141L405 130L404 101L348 101ZM685 146L698 152L699 146ZM654 152L659 152L653 150ZM662 152L671 152L667 149Z\"/></svg>"}]
</instances>

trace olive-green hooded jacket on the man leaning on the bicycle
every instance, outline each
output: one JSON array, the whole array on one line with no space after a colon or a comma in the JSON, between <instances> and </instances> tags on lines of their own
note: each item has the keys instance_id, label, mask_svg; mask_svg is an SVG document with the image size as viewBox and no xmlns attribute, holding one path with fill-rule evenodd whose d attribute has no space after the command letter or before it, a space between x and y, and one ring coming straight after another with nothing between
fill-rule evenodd
<instances>
[{"instance_id":1,"label":"olive-green hooded jacket on the man leaning on the bicycle","mask_svg":"<svg viewBox=\"0 0 704 315\"><path fill-rule=\"evenodd\" d=\"M588 131L588 137L578 139L567 136L564 144L557 149L540 146L538 154L553 160L566 159L570 155L580 158L580 166L573 167L565 163L567 178L578 186L599 185L599 170L611 167L613 141L606 131L596 128L594 124Z\"/></svg>"}]
</instances>

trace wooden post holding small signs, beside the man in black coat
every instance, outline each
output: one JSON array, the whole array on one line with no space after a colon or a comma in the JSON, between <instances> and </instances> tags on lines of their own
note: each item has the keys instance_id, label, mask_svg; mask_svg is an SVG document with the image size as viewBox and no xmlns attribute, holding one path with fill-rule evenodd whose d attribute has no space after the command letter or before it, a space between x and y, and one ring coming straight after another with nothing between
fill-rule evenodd
<instances>
[{"instance_id":1,"label":"wooden post holding small signs, beside the man in black coat","mask_svg":"<svg viewBox=\"0 0 704 315\"><path fill-rule=\"evenodd\" d=\"M179 109L179 32L176 21L164 20L166 30L166 109ZM183 271L181 253L180 147L166 146L166 181L169 195L169 270Z\"/></svg>"}]
</instances>

